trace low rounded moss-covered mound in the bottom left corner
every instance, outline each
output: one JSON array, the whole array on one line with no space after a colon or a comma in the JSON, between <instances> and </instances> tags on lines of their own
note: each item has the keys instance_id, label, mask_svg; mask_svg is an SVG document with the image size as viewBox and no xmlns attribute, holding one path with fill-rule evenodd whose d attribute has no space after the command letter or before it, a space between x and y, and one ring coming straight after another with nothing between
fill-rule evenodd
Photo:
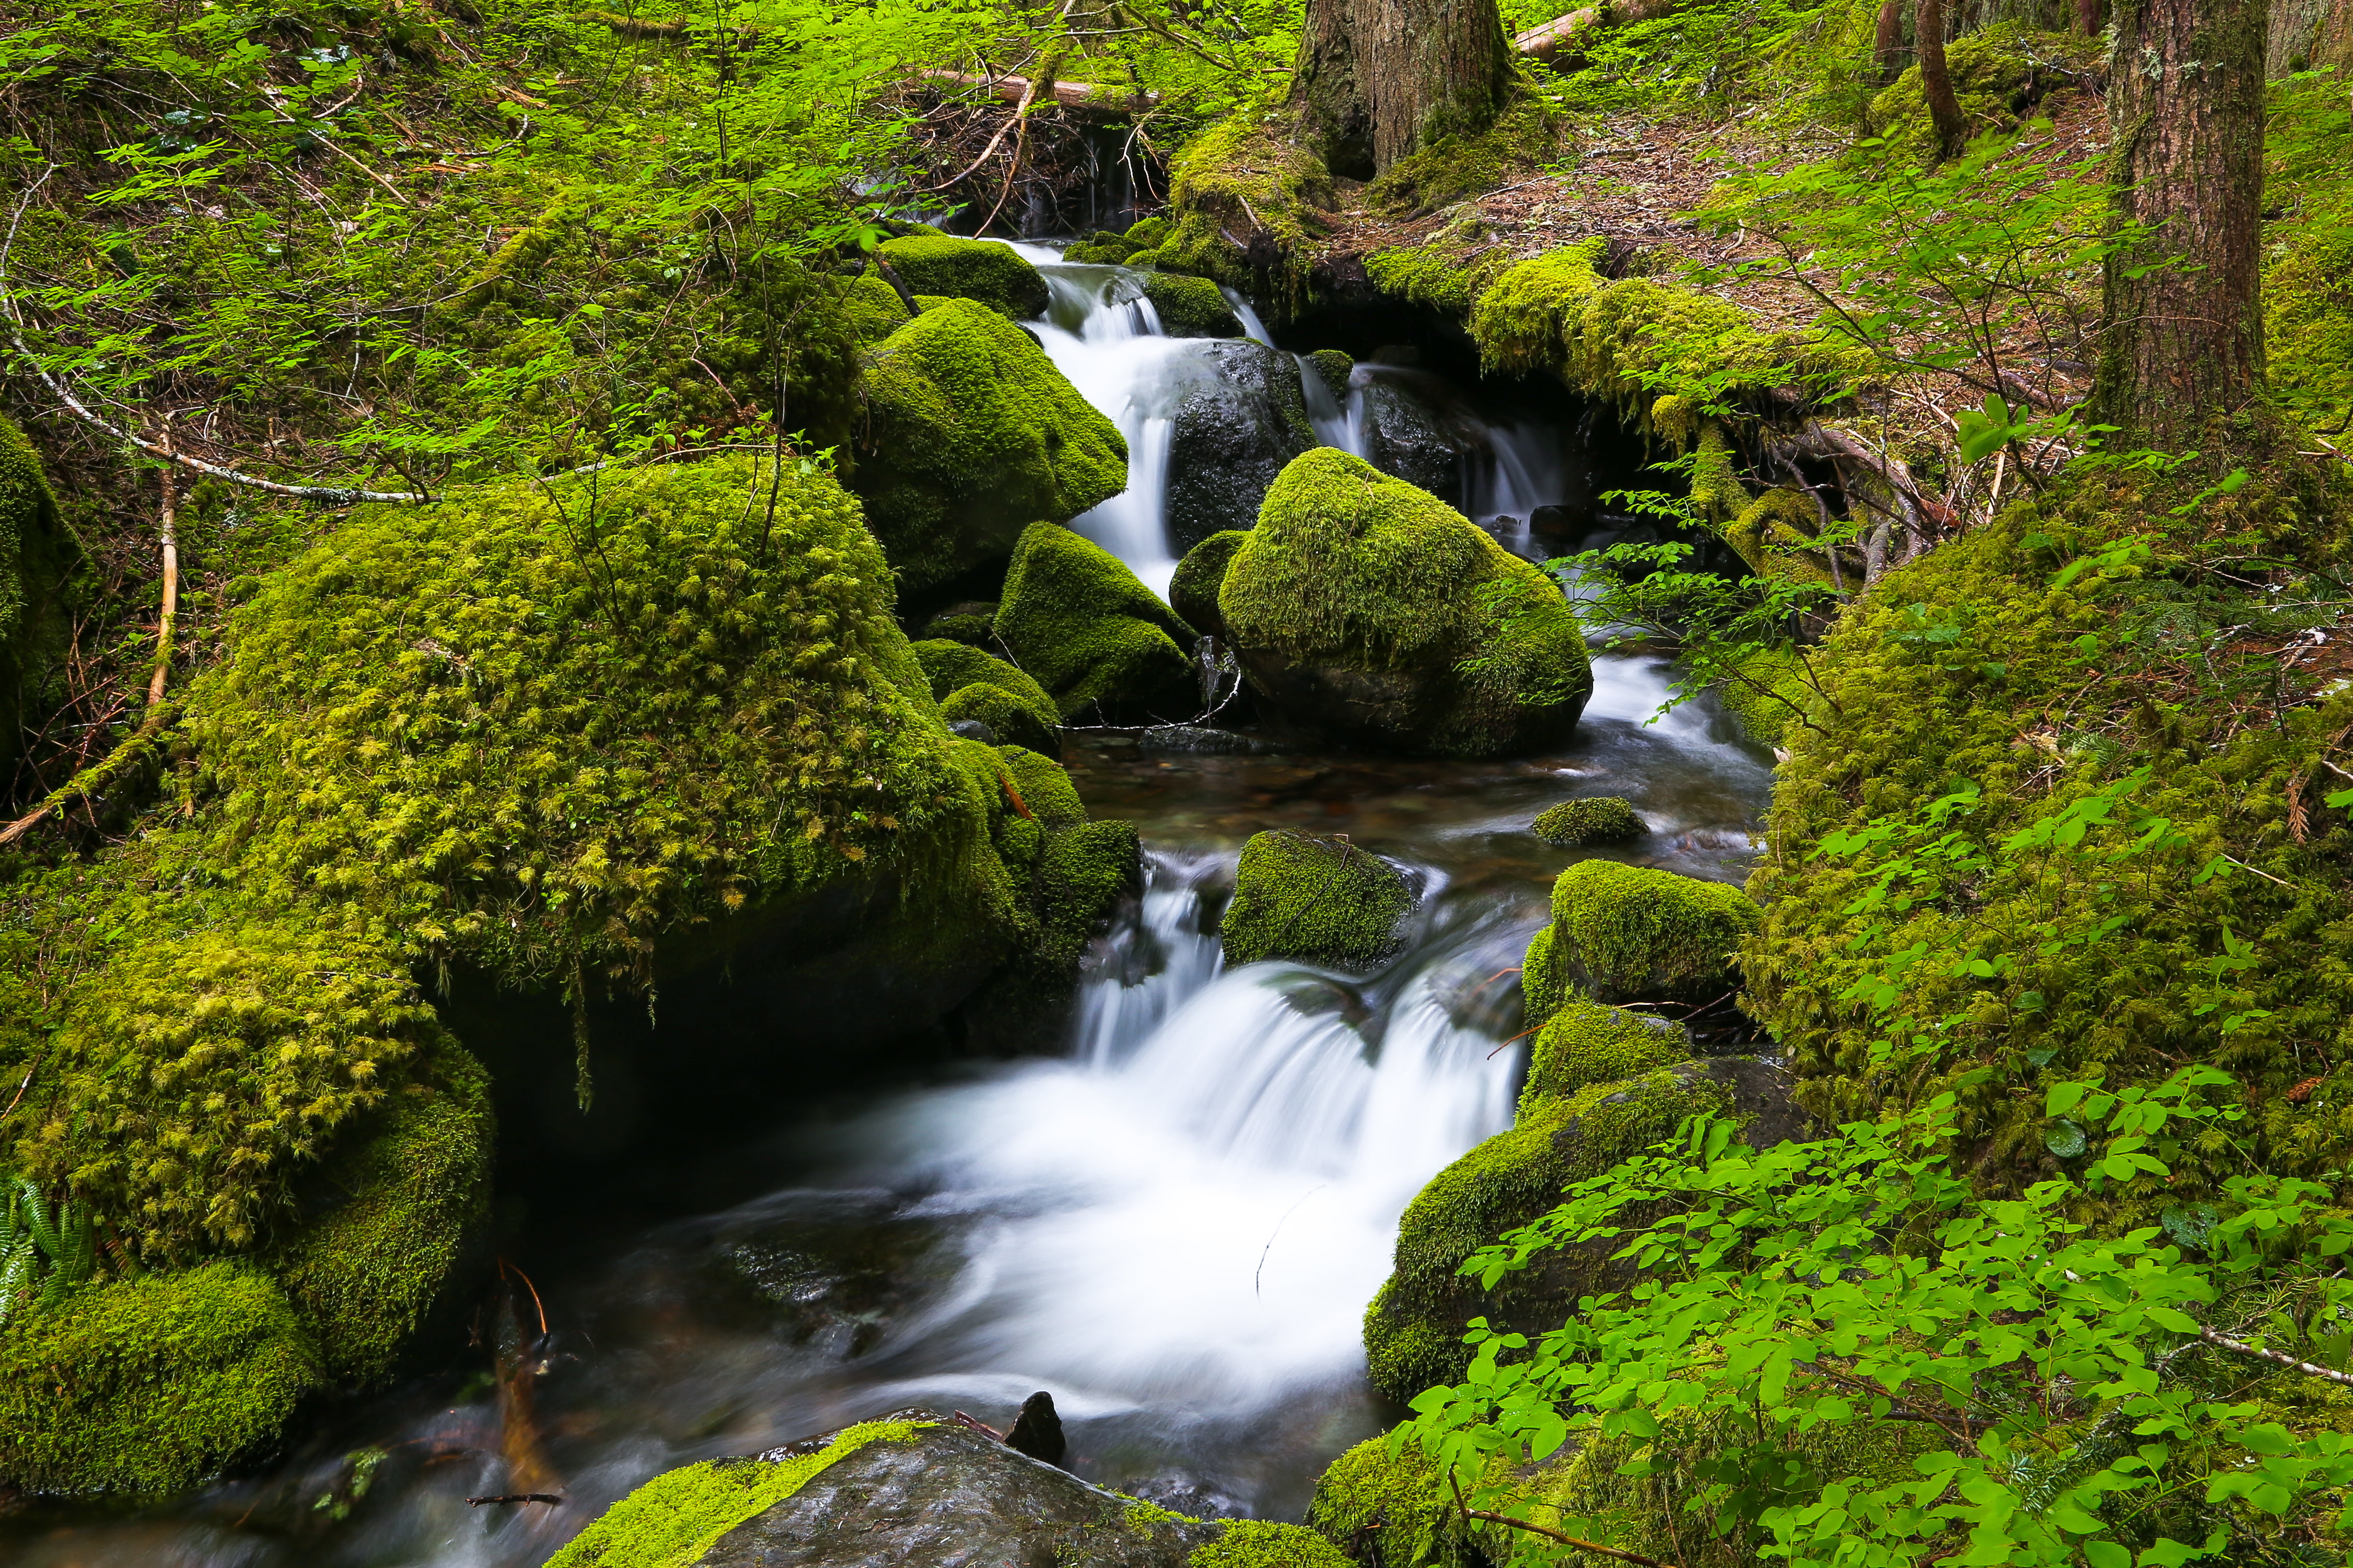
<instances>
[{"instance_id":1,"label":"low rounded moss-covered mound in the bottom left corner","mask_svg":"<svg viewBox=\"0 0 2353 1568\"><path fill-rule=\"evenodd\" d=\"M294 1307L249 1262L89 1286L0 1333L0 1476L186 1490L271 1441L318 1382Z\"/></svg>"}]
</instances>

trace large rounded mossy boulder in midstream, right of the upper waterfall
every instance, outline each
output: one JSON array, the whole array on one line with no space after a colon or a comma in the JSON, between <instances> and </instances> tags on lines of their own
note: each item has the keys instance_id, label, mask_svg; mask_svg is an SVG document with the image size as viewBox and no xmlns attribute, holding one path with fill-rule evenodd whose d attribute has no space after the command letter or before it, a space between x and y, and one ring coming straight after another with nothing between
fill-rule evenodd
<instances>
[{"instance_id":1,"label":"large rounded mossy boulder in midstream, right of the upper waterfall","mask_svg":"<svg viewBox=\"0 0 2353 1568\"><path fill-rule=\"evenodd\" d=\"M1593 691L1577 616L1544 571L1334 447L1268 489L1219 609L1264 698L1369 745L1525 752L1565 741Z\"/></svg>"}]
</instances>

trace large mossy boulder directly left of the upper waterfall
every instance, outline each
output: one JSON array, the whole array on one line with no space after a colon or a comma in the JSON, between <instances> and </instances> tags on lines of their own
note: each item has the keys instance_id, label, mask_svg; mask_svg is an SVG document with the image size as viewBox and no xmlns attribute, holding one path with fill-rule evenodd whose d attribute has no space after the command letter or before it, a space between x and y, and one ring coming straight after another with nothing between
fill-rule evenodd
<instances>
[{"instance_id":1,"label":"large mossy boulder directly left of the upper waterfall","mask_svg":"<svg viewBox=\"0 0 2353 1568\"><path fill-rule=\"evenodd\" d=\"M1127 442L1026 331L958 299L873 353L849 482L899 585L922 590L1118 496Z\"/></svg>"}]
</instances>

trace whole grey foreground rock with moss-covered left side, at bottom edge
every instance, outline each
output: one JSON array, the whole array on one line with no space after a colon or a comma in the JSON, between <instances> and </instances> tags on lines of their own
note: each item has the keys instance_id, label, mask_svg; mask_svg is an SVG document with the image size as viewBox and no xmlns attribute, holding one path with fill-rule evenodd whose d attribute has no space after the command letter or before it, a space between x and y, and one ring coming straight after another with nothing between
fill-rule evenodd
<instances>
[{"instance_id":1,"label":"whole grey foreground rock with moss-covered left side, at bottom edge","mask_svg":"<svg viewBox=\"0 0 2353 1568\"><path fill-rule=\"evenodd\" d=\"M929 1410L704 1460L614 1502L548 1568L1348 1568L1301 1526L1106 1493Z\"/></svg>"}]
</instances>

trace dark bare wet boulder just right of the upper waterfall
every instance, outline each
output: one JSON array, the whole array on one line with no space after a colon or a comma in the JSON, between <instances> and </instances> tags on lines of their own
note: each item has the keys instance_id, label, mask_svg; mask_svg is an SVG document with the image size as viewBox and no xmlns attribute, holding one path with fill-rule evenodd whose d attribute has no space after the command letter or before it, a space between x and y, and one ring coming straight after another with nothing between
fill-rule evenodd
<instances>
[{"instance_id":1,"label":"dark bare wet boulder just right of the upper waterfall","mask_svg":"<svg viewBox=\"0 0 2353 1568\"><path fill-rule=\"evenodd\" d=\"M1176 404L1169 433L1169 555L1254 524L1266 487L1315 444L1299 360L1249 341L1195 353L1207 376Z\"/></svg>"}]
</instances>

